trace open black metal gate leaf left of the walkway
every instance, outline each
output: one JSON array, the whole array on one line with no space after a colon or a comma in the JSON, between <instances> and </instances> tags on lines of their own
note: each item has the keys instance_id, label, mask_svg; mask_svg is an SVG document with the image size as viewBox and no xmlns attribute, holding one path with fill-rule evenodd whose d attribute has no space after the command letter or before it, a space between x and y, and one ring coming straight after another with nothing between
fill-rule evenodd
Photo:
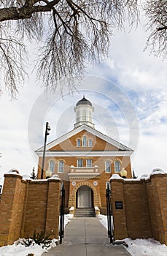
<instances>
[{"instance_id":1,"label":"open black metal gate leaf left of the walkway","mask_svg":"<svg viewBox=\"0 0 167 256\"><path fill-rule=\"evenodd\" d=\"M64 189L64 185L62 183L62 185L61 185L60 226L59 226L60 244L62 244L63 234L64 234L64 207L65 207L65 189Z\"/></svg>"}]
</instances>

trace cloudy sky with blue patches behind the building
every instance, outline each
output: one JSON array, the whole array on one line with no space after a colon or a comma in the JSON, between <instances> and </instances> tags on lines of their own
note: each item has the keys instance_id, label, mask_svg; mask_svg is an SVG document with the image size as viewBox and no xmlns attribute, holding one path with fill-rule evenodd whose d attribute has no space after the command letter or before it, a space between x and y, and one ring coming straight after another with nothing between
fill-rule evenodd
<instances>
[{"instance_id":1,"label":"cloudy sky with blue patches behind the building","mask_svg":"<svg viewBox=\"0 0 167 256\"><path fill-rule=\"evenodd\" d=\"M141 25L130 33L114 31L109 58L99 66L88 65L77 91L68 94L65 89L63 98L59 91L46 97L31 71L17 100L2 94L0 178L14 167L22 175L37 170L34 151L43 146L45 122L52 127L47 142L69 132L74 105L83 94L95 108L96 129L134 150L137 176L155 167L167 170L167 63L144 51L146 37Z\"/></svg>"}]
</instances>

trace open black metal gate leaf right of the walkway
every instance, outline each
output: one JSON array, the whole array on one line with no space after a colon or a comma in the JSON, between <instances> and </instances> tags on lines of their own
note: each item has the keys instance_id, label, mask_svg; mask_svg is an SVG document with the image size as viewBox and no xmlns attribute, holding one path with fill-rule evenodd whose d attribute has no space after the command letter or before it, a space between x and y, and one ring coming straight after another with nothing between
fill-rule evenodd
<instances>
[{"instance_id":1,"label":"open black metal gate leaf right of the walkway","mask_svg":"<svg viewBox=\"0 0 167 256\"><path fill-rule=\"evenodd\" d=\"M109 189L109 184L106 188L106 208L107 208L107 224L108 224L108 237L110 238L110 244L114 241L114 224L112 217L112 195L111 190Z\"/></svg>"}]
</instances>

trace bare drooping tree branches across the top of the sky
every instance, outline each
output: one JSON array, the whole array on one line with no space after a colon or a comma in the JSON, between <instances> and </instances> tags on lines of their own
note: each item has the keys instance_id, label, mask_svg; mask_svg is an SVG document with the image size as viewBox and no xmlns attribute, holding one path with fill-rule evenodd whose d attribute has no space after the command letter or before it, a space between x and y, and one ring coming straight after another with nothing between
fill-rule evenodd
<instances>
[{"instance_id":1,"label":"bare drooping tree branches across the top of the sky","mask_svg":"<svg viewBox=\"0 0 167 256\"><path fill-rule=\"evenodd\" d=\"M25 76L25 41L39 42L35 64L46 89L56 82L82 77L86 64L107 56L112 29L139 20L138 0L0 0L1 76L15 97ZM147 46L166 57L167 0L146 0ZM22 83L21 83L22 82ZM61 85L59 85L61 86ZM62 88L61 88L62 89Z\"/></svg>"}]
</instances>

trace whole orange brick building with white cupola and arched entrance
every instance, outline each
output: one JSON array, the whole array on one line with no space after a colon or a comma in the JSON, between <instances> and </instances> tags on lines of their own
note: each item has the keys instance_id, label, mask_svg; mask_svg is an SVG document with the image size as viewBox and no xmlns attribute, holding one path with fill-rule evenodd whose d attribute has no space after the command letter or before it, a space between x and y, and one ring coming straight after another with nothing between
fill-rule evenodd
<instances>
[{"instance_id":1,"label":"whole orange brick building with white cupola and arched entrance","mask_svg":"<svg viewBox=\"0 0 167 256\"><path fill-rule=\"evenodd\" d=\"M106 184L125 168L131 178L131 148L95 129L92 103L83 97L74 108L74 129L47 144L43 178L58 174L66 189L66 212L98 206L106 214ZM43 148L39 156L41 177Z\"/></svg>"}]
</instances>

